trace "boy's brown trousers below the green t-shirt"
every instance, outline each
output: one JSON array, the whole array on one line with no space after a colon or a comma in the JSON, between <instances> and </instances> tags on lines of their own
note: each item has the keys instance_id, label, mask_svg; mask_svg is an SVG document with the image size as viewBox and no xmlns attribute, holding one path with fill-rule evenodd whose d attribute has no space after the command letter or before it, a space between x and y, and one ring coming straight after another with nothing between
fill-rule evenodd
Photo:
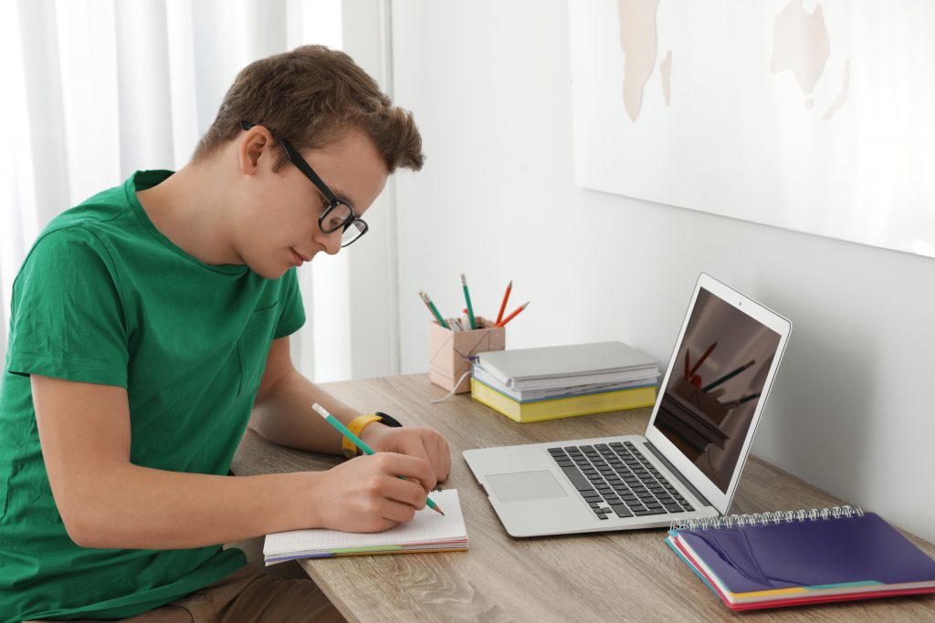
<instances>
[{"instance_id":1,"label":"boy's brown trousers below the green t-shirt","mask_svg":"<svg viewBox=\"0 0 935 623\"><path fill-rule=\"evenodd\" d=\"M309 578L283 579L263 573L255 563L178 602L122 620L127 623L346 623L322 589ZM83 623L94 622L85 619Z\"/></svg>"}]
</instances>

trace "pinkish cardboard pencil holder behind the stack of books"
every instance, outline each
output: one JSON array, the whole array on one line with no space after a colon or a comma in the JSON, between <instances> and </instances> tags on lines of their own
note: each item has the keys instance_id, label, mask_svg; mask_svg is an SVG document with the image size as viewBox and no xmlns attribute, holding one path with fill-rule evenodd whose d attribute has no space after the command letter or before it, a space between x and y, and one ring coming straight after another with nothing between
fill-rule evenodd
<instances>
[{"instance_id":1,"label":"pinkish cardboard pencil holder behind the stack of books","mask_svg":"<svg viewBox=\"0 0 935 623\"><path fill-rule=\"evenodd\" d=\"M438 322L428 325L428 378L430 381L451 391L454 384L470 371L471 357L490 350L503 350L507 330L495 327L492 320L475 318L477 329L453 332ZM454 393L470 391L470 375L458 383Z\"/></svg>"}]
</instances>

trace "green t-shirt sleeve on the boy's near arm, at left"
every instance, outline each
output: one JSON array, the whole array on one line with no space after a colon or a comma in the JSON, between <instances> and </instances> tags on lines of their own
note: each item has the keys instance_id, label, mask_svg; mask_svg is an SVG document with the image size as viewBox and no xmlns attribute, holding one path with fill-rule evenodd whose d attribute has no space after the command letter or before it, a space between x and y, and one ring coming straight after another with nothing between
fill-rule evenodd
<instances>
[{"instance_id":1,"label":"green t-shirt sleeve on the boy's near arm, at left","mask_svg":"<svg viewBox=\"0 0 935 623\"><path fill-rule=\"evenodd\" d=\"M13 283L8 371L126 387L118 276L81 226L44 234Z\"/></svg>"}]
</instances>

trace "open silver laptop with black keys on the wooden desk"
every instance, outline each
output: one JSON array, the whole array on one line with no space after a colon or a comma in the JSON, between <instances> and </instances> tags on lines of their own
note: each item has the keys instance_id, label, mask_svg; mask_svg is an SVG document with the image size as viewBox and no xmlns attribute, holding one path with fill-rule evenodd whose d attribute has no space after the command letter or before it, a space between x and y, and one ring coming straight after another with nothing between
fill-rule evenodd
<instances>
[{"instance_id":1,"label":"open silver laptop with black keys on the wooden desk","mask_svg":"<svg viewBox=\"0 0 935 623\"><path fill-rule=\"evenodd\" d=\"M645 434L467 450L465 460L512 536L725 515L790 330L702 273Z\"/></svg>"}]
</instances>

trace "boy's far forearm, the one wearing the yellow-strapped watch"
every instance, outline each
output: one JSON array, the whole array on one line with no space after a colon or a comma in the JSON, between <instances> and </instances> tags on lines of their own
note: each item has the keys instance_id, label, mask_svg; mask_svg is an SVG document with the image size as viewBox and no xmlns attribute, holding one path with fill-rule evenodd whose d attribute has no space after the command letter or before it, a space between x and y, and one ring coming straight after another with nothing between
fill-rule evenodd
<instances>
[{"instance_id":1,"label":"boy's far forearm, the one wearing the yellow-strapped watch","mask_svg":"<svg viewBox=\"0 0 935 623\"><path fill-rule=\"evenodd\" d=\"M281 446L340 454L341 435L311 409L320 403L345 424L360 415L293 370L253 404L250 426Z\"/></svg>"}]
</instances>

